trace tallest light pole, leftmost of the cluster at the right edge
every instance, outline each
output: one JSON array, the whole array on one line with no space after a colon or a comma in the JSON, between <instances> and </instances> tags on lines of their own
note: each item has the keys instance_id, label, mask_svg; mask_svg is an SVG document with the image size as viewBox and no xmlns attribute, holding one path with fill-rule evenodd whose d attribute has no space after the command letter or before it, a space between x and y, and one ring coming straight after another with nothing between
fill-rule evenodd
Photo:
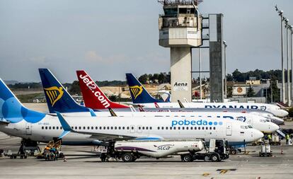
<instances>
[{"instance_id":1,"label":"tallest light pole, leftmost of the cluster at the right edge","mask_svg":"<svg viewBox=\"0 0 293 179\"><path fill-rule=\"evenodd\" d=\"M284 70L284 47L283 47L283 21L285 20L283 16L283 11L275 6L277 13L281 18L281 59L282 59L282 90L281 90L281 101L285 103L285 70Z\"/></svg>"}]
</instances>

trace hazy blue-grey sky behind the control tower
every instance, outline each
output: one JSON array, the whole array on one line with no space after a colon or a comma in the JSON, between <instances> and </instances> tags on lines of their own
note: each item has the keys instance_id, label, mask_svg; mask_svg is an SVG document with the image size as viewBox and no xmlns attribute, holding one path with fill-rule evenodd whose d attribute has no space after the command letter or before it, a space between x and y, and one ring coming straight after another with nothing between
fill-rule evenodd
<instances>
[{"instance_id":1,"label":"hazy blue-grey sky behind the control tower","mask_svg":"<svg viewBox=\"0 0 293 179\"><path fill-rule=\"evenodd\" d=\"M228 73L281 69L275 4L293 22L292 0L200 4L203 14L224 14ZM0 0L0 78L40 81L39 68L49 68L62 83L77 80L79 69L96 81L170 71L170 50L159 46L159 13L157 0ZM193 50L194 71L197 64ZM203 50L202 71L208 67Z\"/></svg>"}]
</instances>

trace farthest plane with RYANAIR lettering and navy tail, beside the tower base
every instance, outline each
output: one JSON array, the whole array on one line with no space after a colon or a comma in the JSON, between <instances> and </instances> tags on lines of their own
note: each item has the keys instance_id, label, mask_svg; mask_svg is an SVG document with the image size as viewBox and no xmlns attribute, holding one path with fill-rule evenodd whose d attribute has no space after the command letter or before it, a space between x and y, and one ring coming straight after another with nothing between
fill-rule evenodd
<instances>
[{"instance_id":1,"label":"farthest plane with RYANAIR lettering and navy tail, beside the tower base","mask_svg":"<svg viewBox=\"0 0 293 179\"><path fill-rule=\"evenodd\" d=\"M130 86L130 94L132 96L132 102L134 104L143 105L145 108L180 108L178 103L162 103L154 99L142 86L132 74L126 74L127 83ZM135 88L136 90L132 90ZM289 113L286 110L282 110L277 105L265 104L265 103L182 103L185 108L206 108L206 109L249 109L249 110L264 110L272 112L273 115L278 117L285 117Z\"/></svg>"}]
</instances>

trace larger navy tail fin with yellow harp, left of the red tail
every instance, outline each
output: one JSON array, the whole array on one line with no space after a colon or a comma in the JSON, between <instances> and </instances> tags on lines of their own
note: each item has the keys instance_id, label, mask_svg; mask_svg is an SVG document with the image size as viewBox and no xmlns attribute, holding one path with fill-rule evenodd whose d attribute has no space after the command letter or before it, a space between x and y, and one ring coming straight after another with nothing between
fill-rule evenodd
<instances>
[{"instance_id":1,"label":"larger navy tail fin with yellow harp, left of the red tail","mask_svg":"<svg viewBox=\"0 0 293 179\"><path fill-rule=\"evenodd\" d=\"M39 72L50 113L89 111L75 102L49 69L39 69Z\"/></svg>"}]
</instances>

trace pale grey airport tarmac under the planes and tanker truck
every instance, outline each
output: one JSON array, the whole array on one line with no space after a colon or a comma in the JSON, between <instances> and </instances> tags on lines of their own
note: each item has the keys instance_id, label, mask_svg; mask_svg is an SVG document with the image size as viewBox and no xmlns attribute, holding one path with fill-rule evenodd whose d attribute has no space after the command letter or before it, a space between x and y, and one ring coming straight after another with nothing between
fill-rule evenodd
<instances>
[{"instance_id":1,"label":"pale grey airport tarmac under the planes and tanker truck","mask_svg":"<svg viewBox=\"0 0 293 179\"><path fill-rule=\"evenodd\" d=\"M286 128L293 122L287 122ZM0 133L0 149L18 151L21 139ZM183 163L172 158L139 158L132 163L100 162L93 146L62 146L67 162L0 157L0 178L292 178L293 146L271 146L272 157L259 157L260 146L222 162ZM43 148L45 144L40 144ZM283 154L281 151L283 150Z\"/></svg>"}]
</instances>

